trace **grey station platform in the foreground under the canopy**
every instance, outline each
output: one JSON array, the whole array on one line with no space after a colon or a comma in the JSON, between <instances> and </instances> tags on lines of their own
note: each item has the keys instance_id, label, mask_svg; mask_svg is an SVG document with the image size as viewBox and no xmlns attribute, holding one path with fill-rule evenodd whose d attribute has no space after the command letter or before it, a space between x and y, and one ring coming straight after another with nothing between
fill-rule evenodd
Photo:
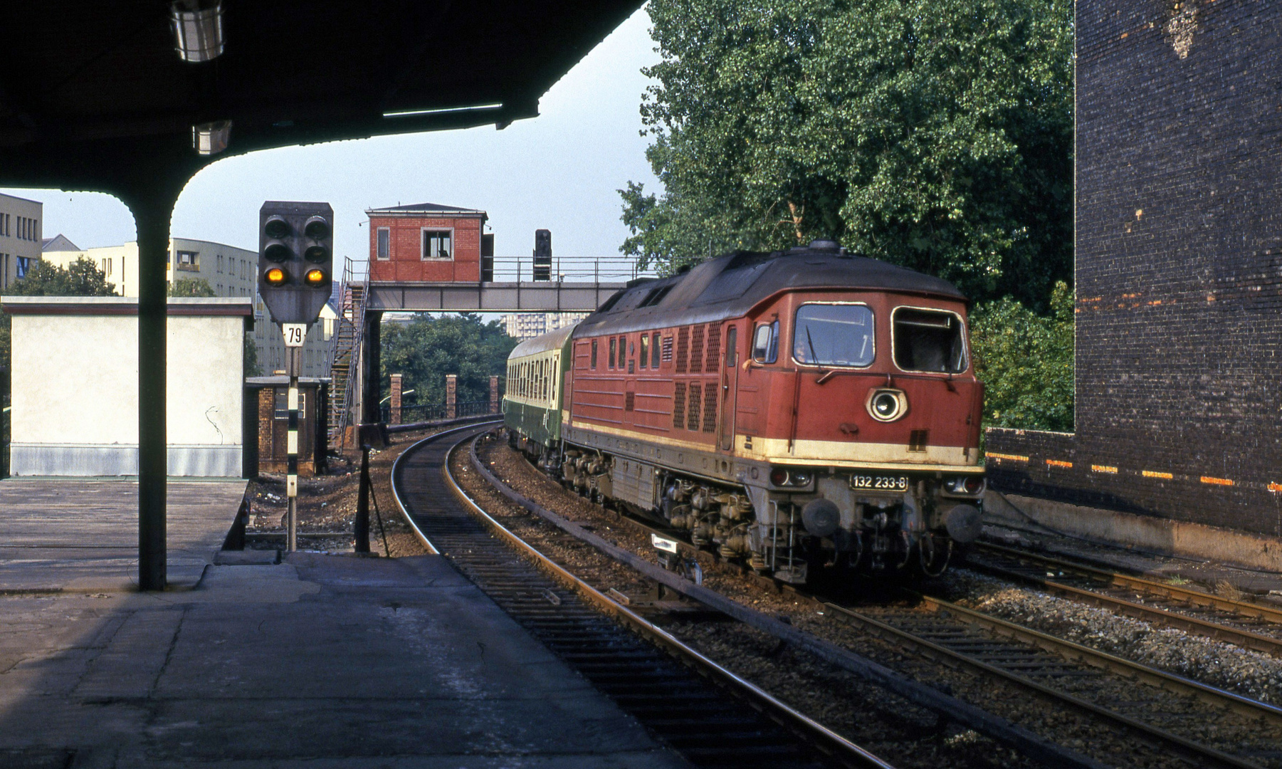
<instances>
[{"instance_id":1,"label":"grey station platform in the foreground under the canopy","mask_svg":"<svg viewBox=\"0 0 1282 769\"><path fill-rule=\"evenodd\" d=\"M58 505L45 509L74 502L49 493ZM15 518L12 499L0 519ZM222 509L222 533L235 511ZM37 558L8 558L0 578L77 590L0 590L3 766L687 765L440 556L296 552L273 565L262 561L274 551L206 550L191 588L140 593L122 579L128 514L78 543L50 543L35 511L17 518L4 525ZM192 533L192 568L221 537Z\"/></svg>"}]
</instances>

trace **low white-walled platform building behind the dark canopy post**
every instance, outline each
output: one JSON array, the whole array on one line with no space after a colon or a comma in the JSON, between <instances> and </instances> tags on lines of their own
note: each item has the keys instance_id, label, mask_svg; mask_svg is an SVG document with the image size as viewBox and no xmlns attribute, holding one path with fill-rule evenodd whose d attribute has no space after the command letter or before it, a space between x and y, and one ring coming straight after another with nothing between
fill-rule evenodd
<instances>
[{"instance_id":1,"label":"low white-walled platform building behind the dark canopy post","mask_svg":"<svg viewBox=\"0 0 1282 769\"><path fill-rule=\"evenodd\" d=\"M12 474L137 474L137 309L123 296L0 299L13 320ZM251 300L171 299L168 313L168 472L240 477Z\"/></svg>"}]
</instances>

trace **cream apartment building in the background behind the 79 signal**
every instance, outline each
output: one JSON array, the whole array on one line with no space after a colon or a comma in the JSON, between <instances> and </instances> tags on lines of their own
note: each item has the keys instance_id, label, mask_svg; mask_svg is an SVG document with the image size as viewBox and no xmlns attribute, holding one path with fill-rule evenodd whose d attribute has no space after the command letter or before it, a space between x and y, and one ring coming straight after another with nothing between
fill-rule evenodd
<instances>
[{"instance_id":1,"label":"cream apartment building in the background behind the 79 signal","mask_svg":"<svg viewBox=\"0 0 1282 769\"><path fill-rule=\"evenodd\" d=\"M85 258L97 265L108 282L115 285L122 296L138 295L138 244L96 249L65 249L67 238L54 238L44 252L46 261L67 267ZM258 296L258 251L237 249L213 241L174 237L169 241L169 263L165 276L171 283L183 278L204 279L214 290L214 296L238 296L254 300L254 347L258 365L264 374L285 369L285 340L281 329ZM337 313L326 306L322 319L308 332L303 346L303 377L328 377L333 350L333 328Z\"/></svg>"}]
</instances>

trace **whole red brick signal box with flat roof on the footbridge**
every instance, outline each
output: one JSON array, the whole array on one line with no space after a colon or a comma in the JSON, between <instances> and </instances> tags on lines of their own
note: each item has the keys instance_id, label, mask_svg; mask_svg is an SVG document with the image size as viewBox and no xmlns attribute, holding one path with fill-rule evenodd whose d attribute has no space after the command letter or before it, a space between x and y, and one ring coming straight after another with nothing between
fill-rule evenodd
<instances>
[{"instance_id":1,"label":"whole red brick signal box with flat roof on the footbridge","mask_svg":"<svg viewBox=\"0 0 1282 769\"><path fill-rule=\"evenodd\" d=\"M476 283L481 258L494 258L494 236L483 232L488 217L482 210L420 203L365 214L370 281Z\"/></svg>"}]
</instances>

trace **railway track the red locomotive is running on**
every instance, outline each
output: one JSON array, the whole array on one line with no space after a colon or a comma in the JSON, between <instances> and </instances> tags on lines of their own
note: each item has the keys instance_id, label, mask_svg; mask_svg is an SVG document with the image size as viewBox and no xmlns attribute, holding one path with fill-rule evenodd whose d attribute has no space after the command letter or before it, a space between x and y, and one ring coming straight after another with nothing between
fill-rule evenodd
<instances>
[{"instance_id":1,"label":"railway track the red locomotive is running on","mask_svg":"<svg viewBox=\"0 0 1282 769\"><path fill-rule=\"evenodd\" d=\"M479 465L477 469L485 472ZM500 483L492 477L491 482ZM514 492L509 488L504 493L512 496ZM631 517L618 515L617 519L670 536L670 532ZM1161 745L1195 765L1249 768L1260 765L1255 759L1282 759L1282 751L1277 750L1282 710L1272 705L938 599L915 596L913 608L860 613L805 596L801 591L796 595L822 604L842 620L872 634L915 649L944 664L1003 678L1042 699L1108 722L1147 743ZM1208 718L1209 714L1214 716ZM1226 720L1233 719L1235 723L1226 725Z\"/></svg>"}]
</instances>

